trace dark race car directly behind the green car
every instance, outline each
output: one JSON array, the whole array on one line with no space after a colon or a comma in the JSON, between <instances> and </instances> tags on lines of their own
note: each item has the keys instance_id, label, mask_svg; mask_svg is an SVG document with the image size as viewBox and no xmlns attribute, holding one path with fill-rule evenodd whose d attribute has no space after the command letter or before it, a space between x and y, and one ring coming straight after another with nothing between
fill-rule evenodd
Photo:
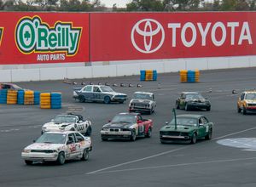
<instances>
[{"instance_id":1,"label":"dark race car directly behind the green car","mask_svg":"<svg viewBox=\"0 0 256 187\"><path fill-rule=\"evenodd\" d=\"M211 110L211 103L208 99L196 92L183 92L180 97L176 99L176 108L184 109L185 111L193 109Z\"/></svg>"}]
</instances>

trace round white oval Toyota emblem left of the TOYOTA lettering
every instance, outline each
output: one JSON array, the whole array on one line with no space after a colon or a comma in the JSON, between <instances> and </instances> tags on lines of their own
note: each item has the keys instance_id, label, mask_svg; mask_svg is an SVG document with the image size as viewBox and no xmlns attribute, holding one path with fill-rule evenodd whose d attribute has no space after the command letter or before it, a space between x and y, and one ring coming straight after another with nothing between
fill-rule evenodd
<instances>
[{"instance_id":1,"label":"round white oval Toyota emblem left of the TOYOTA lettering","mask_svg":"<svg viewBox=\"0 0 256 187\"><path fill-rule=\"evenodd\" d=\"M138 38L142 42L138 42ZM153 38L154 41L153 41ZM137 41L137 42L136 42ZM137 22L131 30L131 42L134 48L143 54L152 54L157 51L165 41L165 31L160 23L153 19L143 19ZM143 43L139 45L140 43Z\"/></svg>"}]
</instances>

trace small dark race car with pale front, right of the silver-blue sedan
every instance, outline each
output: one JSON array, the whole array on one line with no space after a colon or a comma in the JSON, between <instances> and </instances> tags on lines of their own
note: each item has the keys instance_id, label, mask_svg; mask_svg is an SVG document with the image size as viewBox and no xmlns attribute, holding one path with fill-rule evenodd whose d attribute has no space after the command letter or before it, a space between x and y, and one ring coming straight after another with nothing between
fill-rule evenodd
<instances>
[{"instance_id":1,"label":"small dark race car with pale front, right of the silver-blue sedan","mask_svg":"<svg viewBox=\"0 0 256 187\"><path fill-rule=\"evenodd\" d=\"M135 92L129 104L129 111L148 112L152 114L155 107L156 102L153 93Z\"/></svg>"}]
</instances>

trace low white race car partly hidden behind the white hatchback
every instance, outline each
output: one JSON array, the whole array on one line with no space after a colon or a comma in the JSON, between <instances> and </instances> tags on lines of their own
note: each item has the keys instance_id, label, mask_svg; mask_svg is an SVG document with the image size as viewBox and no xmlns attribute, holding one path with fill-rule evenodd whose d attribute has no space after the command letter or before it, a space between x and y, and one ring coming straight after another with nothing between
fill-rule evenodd
<instances>
[{"instance_id":1,"label":"low white race car partly hidden behind the white hatchback","mask_svg":"<svg viewBox=\"0 0 256 187\"><path fill-rule=\"evenodd\" d=\"M84 136L90 136L92 129L90 120L84 120L84 117L78 114L68 113L55 116L51 122L45 123L42 133L49 131L79 131Z\"/></svg>"}]
</instances>

